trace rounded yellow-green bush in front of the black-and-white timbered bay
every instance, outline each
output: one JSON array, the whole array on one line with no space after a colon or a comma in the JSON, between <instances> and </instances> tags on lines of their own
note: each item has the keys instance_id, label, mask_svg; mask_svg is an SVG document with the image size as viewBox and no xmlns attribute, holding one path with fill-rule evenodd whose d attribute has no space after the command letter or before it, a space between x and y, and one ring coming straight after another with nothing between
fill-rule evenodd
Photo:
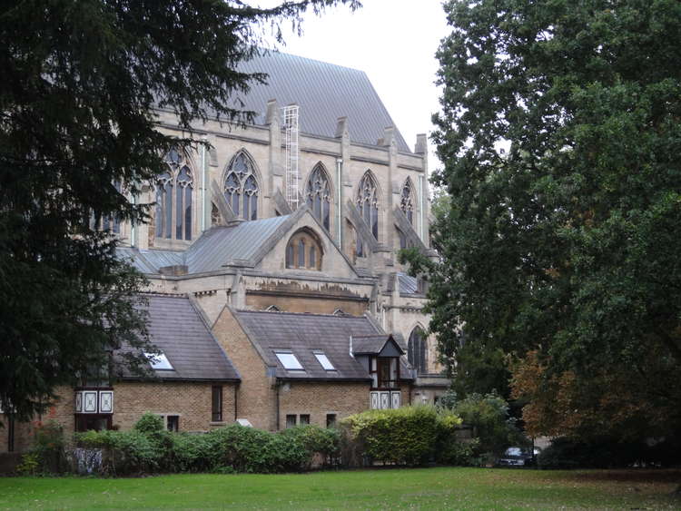
<instances>
[{"instance_id":1,"label":"rounded yellow-green bush in front of the black-and-white timbered bay","mask_svg":"<svg viewBox=\"0 0 681 511\"><path fill-rule=\"evenodd\" d=\"M371 461L419 465L432 459L436 449L456 442L461 420L431 406L369 410L341 422L354 451ZM346 449L352 450L352 449Z\"/></svg>"}]
</instances>

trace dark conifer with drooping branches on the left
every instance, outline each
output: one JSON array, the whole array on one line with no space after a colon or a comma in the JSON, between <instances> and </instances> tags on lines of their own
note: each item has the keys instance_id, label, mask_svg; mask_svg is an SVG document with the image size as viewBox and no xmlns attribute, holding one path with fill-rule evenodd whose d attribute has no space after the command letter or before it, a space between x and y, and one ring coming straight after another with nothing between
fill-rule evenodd
<instances>
[{"instance_id":1,"label":"dark conifer with drooping branches on the left","mask_svg":"<svg viewBox=\"0 0 681 511\"><path fill-rule=\"evenodd\" d=\"M192 123L247 122L238 97L262 74L238 64L264 30L298 25L301 0L15 0L0 6L0 403L28 418L57 385L121 342L140 347L141 275L99 219L145 221L130 201L192 143ZM177 115L186 138L155 129ZM90 219L94 218L94 221ZM131 363L133 359L129 360ZM139 361L139 360L138 360Z\"/></svg>"}]
</instances>

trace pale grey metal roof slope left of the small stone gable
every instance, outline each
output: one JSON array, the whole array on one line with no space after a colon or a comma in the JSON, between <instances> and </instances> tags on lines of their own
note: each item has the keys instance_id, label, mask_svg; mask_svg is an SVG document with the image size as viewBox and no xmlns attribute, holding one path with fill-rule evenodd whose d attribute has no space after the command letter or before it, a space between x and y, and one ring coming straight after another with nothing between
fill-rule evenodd
<instances>
[{"instance_id":1,"label":"pale grey metal roof slope left of the small stone gable","mask_svg":"<svg viewBox=\"0 0 681 511\"><path fill-rule=\"evenodd\" d=\"M216 226L203 232L184 252L190 273L220 270L230 262L255 262L255 256L291 215L243 221L234 226Z\"/></svg>"}]
</instances>

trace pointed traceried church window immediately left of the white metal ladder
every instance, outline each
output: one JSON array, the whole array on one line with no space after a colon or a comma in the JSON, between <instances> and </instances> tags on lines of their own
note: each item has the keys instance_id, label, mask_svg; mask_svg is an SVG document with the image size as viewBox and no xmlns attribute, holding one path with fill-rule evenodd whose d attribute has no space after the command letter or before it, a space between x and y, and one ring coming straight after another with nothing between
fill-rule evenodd
<instances>
[{"instance_id":1,"label":"pointed traceried church window immediately left of the white metal ladder","mask_svg":"<svg viewBox=\"0 0 681 511\"><path fill-rule=\"evenodd\" d=\"M258 182L252 162L244 152L239 152L233 158L222 190L235 215L245 220L258 219Z\"/></svg>"}]
</instances>

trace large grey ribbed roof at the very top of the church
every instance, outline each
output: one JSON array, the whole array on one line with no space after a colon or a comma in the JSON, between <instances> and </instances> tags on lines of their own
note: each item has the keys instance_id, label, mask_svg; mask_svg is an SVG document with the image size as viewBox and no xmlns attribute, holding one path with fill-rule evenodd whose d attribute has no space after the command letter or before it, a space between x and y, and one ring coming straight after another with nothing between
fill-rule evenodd
<instances>
[{"instance_id":1,"label":"large grey ribbed roof at the very top of the church","mask_svg":"<svg viewBox=\"0 0 681 511\"><path fill-rule=\"evenodd\" d=\"M352 142L376 145L384 129L395 125L363 71L275 52L256 56L239 69L269 75L267 84L252 83L247 95L238 94L244 109L257 113L258 124L265 123L268 100L276 99L280 107L300 105L301 133L333 138L338 118L347 117ZM395 132L398 150L411 152L397 127Z\"/></svg>"}]
</instances>

